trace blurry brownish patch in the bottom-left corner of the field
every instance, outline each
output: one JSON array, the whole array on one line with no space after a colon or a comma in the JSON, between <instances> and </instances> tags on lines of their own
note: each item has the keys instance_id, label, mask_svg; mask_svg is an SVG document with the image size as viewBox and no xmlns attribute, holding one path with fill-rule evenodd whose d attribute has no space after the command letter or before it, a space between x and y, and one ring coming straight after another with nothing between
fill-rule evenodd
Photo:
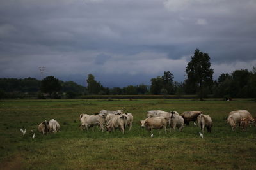
<instances>
[{"instance_id":1,"label":"blurry brownish patch in the bottom-left corner of the field","mask_svg":"<svg viewBox=\"0 0 256 170\"><path fill-rule=\"evenodd\" d=\"M22 157L17 154L4 159L3 162L0 162L0 169L22 169Z\"/></svg>"}]
</instances>

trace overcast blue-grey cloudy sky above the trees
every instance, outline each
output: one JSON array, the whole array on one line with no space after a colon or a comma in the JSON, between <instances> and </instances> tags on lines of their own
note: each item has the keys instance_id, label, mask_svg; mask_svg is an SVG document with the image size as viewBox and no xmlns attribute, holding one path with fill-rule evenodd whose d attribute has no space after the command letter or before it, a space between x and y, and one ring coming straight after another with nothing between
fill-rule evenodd
<instances>
[{"instance_id":1,"label":"overcast blue-grey cloudy sky above the trees","mask_svg":"<svg viewBox=\"0 0 256 170\"><path fill-rule=\"evenodd\" d=\"M198 48L214 79L256 66L255 0L0 1L0 78L44 77L105 87L174 80Z\"/></svg>"}]
</instances>

